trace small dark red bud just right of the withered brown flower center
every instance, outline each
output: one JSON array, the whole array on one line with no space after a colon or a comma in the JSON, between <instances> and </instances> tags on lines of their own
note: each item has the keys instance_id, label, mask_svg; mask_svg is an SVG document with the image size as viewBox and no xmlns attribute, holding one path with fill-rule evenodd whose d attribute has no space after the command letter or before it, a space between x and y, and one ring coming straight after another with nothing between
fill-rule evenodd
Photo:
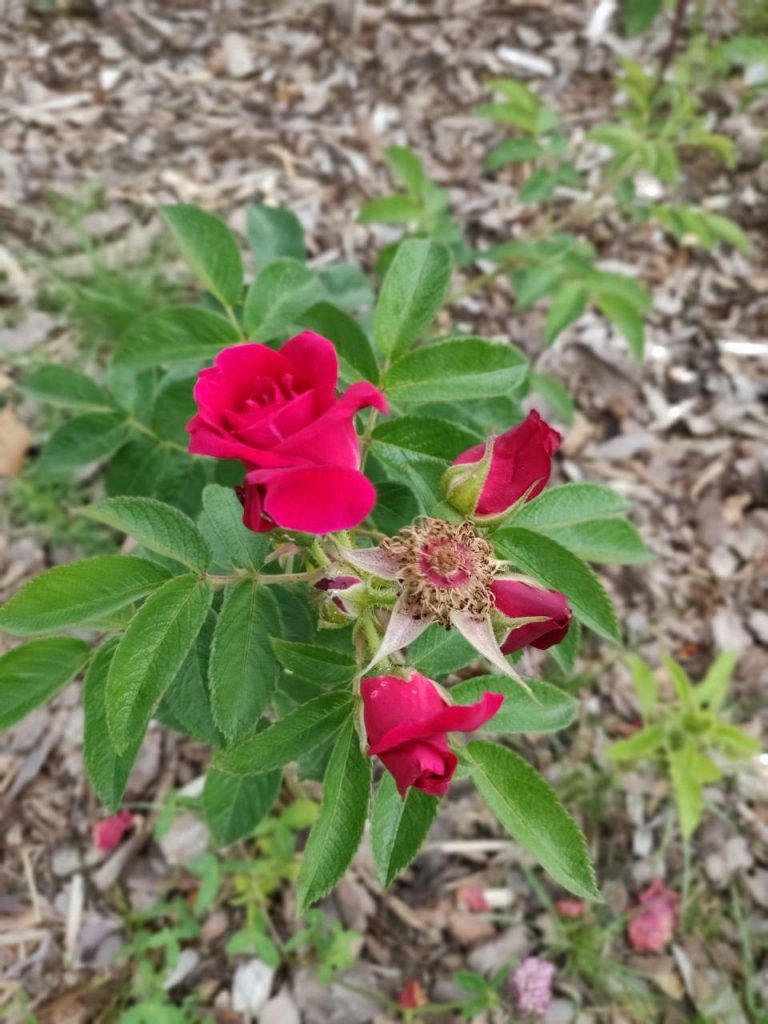
<instances>
[{"instance_id":1,"label":"small dark red bud just right of the withered brown flower center","mask_svg":"<svg viewBox=\"0 0 768 1024\"><path fill-rule=\"evenodd\" d=\"M505 617L540 620L514 628L502 643L505 654L522 647L546 650L565 639L571 612L564 594L519 580L495 580L490 592L496 599L496 610Z\"/></svg>"}]
</instances>

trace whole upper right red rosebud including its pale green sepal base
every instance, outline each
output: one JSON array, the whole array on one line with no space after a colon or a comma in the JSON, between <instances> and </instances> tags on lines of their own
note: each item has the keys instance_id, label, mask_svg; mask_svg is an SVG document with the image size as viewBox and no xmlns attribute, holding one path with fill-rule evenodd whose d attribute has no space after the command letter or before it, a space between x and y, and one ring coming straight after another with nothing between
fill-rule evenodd
<instances>
[{"instance_id":1,"label":"whole upper right red rosebud including its pale green sepal base","mask_svg":"<svg viewBox=\"0 0 768 1024\"><path fill-rule=\"evenodd\" d=\"M462 453L442 478L446 500L462 515L493 519L547 485L560 434L536 411L501 437Z\"/></svg>"}]
</instances>

